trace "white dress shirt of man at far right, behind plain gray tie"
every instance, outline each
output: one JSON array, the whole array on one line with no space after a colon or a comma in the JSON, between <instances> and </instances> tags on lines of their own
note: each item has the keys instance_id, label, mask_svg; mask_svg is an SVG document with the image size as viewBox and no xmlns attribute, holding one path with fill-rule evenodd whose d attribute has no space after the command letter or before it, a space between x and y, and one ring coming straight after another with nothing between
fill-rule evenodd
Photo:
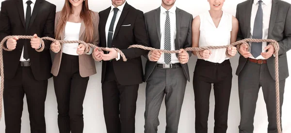
<instances>
[{"instance_id":1,"label":"white dress shirt of man at far right, behind plain gray tie","mask_svg":"<svg viewBox=\"0 0 291 133\"><path fill-rule=\"evenodd\" d=\"M259 8L259 0L254 0L253 6L252 6L252 13L251 13L251 30L250 30L250 38L252 38L252 34L254 31L254 23L255 18L257 15L257 11ZM271 16L271 10L272 10L272 0L262 0L262 10L263 10L263 36L262 39L268 39L268 30L269 30L269 22L270 22L270 16ZM251 44L251 43L250 43ZM266 42L262 43L262 52L266 52L264 48L267 46ZM259 55L257 58L254 58L251 56L252 59L265 59L262 57L262 55Z\"/></svg>"}]
</instances>

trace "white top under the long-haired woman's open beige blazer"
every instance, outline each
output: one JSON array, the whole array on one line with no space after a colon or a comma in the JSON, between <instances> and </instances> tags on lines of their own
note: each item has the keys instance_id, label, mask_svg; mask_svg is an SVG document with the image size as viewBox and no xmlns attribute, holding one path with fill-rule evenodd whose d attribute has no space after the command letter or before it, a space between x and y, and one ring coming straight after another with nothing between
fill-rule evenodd
<instances>
[{"instance_id":1,"label":"white top under the long-haired woman's open beige blazer","mask_svg":"<svg viewBox=\"0 0 291 133\"><path fill-rule=\"evenodd\" d=\"M81 23L66 22L64 41L78 41L80 34ZM63 53L68 55L79 56L77 48L79 44L63 44Z\"/></svg>"}]
</instances>

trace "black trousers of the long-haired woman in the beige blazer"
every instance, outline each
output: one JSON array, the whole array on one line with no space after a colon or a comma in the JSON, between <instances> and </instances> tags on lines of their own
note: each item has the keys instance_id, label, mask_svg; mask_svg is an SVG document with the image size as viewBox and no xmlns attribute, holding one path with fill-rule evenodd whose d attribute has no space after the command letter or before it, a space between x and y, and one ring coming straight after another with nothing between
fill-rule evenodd
<instances>
[{"instance_id":1,"label":"black trousers of the long-haired woman in the beige blazer","mask_svg":"<svg viewBox=\"0 0 291 133\"><path fill-rule=\"evenodd\" d=\"M83 133L83 101L89 77L81 77L79 57L63 53L59 74L53 77L60 133Z\"/></svg>"}]
</instances>

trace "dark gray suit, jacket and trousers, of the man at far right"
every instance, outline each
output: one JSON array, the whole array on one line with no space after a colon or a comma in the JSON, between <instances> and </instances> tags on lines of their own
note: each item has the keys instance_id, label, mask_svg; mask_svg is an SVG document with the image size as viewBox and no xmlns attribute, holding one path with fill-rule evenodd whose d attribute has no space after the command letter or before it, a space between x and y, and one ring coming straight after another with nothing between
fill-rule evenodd
<instances>
[{"instance_id":1,"label":"dark gray suit, jacket and trousers, of the man at far right","mask_svg":"<svg viewBox=\"0 0 291 133\"><path fill-rule=\"evenodd\" d=\"M236 18L239 21L237 40L250 38L250 19L254 0L244 1L237 6ZM264 11L263 11L264 12ZM291 5L285 1L273 0L268 30L268 39L276 40L279 50L280 104L283 103L285 79L289 76L286 52L291 49ZM239 80L241 107L240 133L253 133L254 115L259 88L262 87L268 112L268 133L277 133L275 106L275 57L266 64L257 64L240 56L236 71Z\"/></svg>"}]
</instances>

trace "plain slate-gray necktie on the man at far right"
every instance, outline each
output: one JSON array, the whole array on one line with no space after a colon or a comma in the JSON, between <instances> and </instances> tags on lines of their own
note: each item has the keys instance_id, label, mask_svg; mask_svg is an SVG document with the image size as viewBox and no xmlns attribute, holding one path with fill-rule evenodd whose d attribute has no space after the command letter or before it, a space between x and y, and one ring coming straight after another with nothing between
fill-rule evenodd
<instances>
[{"instance_id":1,"label":"plain slate-gray necktie on the man at far right","mask_svg":"<svg viewBox=\"0 0 291 133\"><path fill-rule=\"evenodd\" d=\"M259 0L259 8L254 23L253 39L262 39L263 37L263 10L262 1ZM262 43L253 42L251 45L251 54L257 58L262 52Z\"/></svg>"}]
</instances>

